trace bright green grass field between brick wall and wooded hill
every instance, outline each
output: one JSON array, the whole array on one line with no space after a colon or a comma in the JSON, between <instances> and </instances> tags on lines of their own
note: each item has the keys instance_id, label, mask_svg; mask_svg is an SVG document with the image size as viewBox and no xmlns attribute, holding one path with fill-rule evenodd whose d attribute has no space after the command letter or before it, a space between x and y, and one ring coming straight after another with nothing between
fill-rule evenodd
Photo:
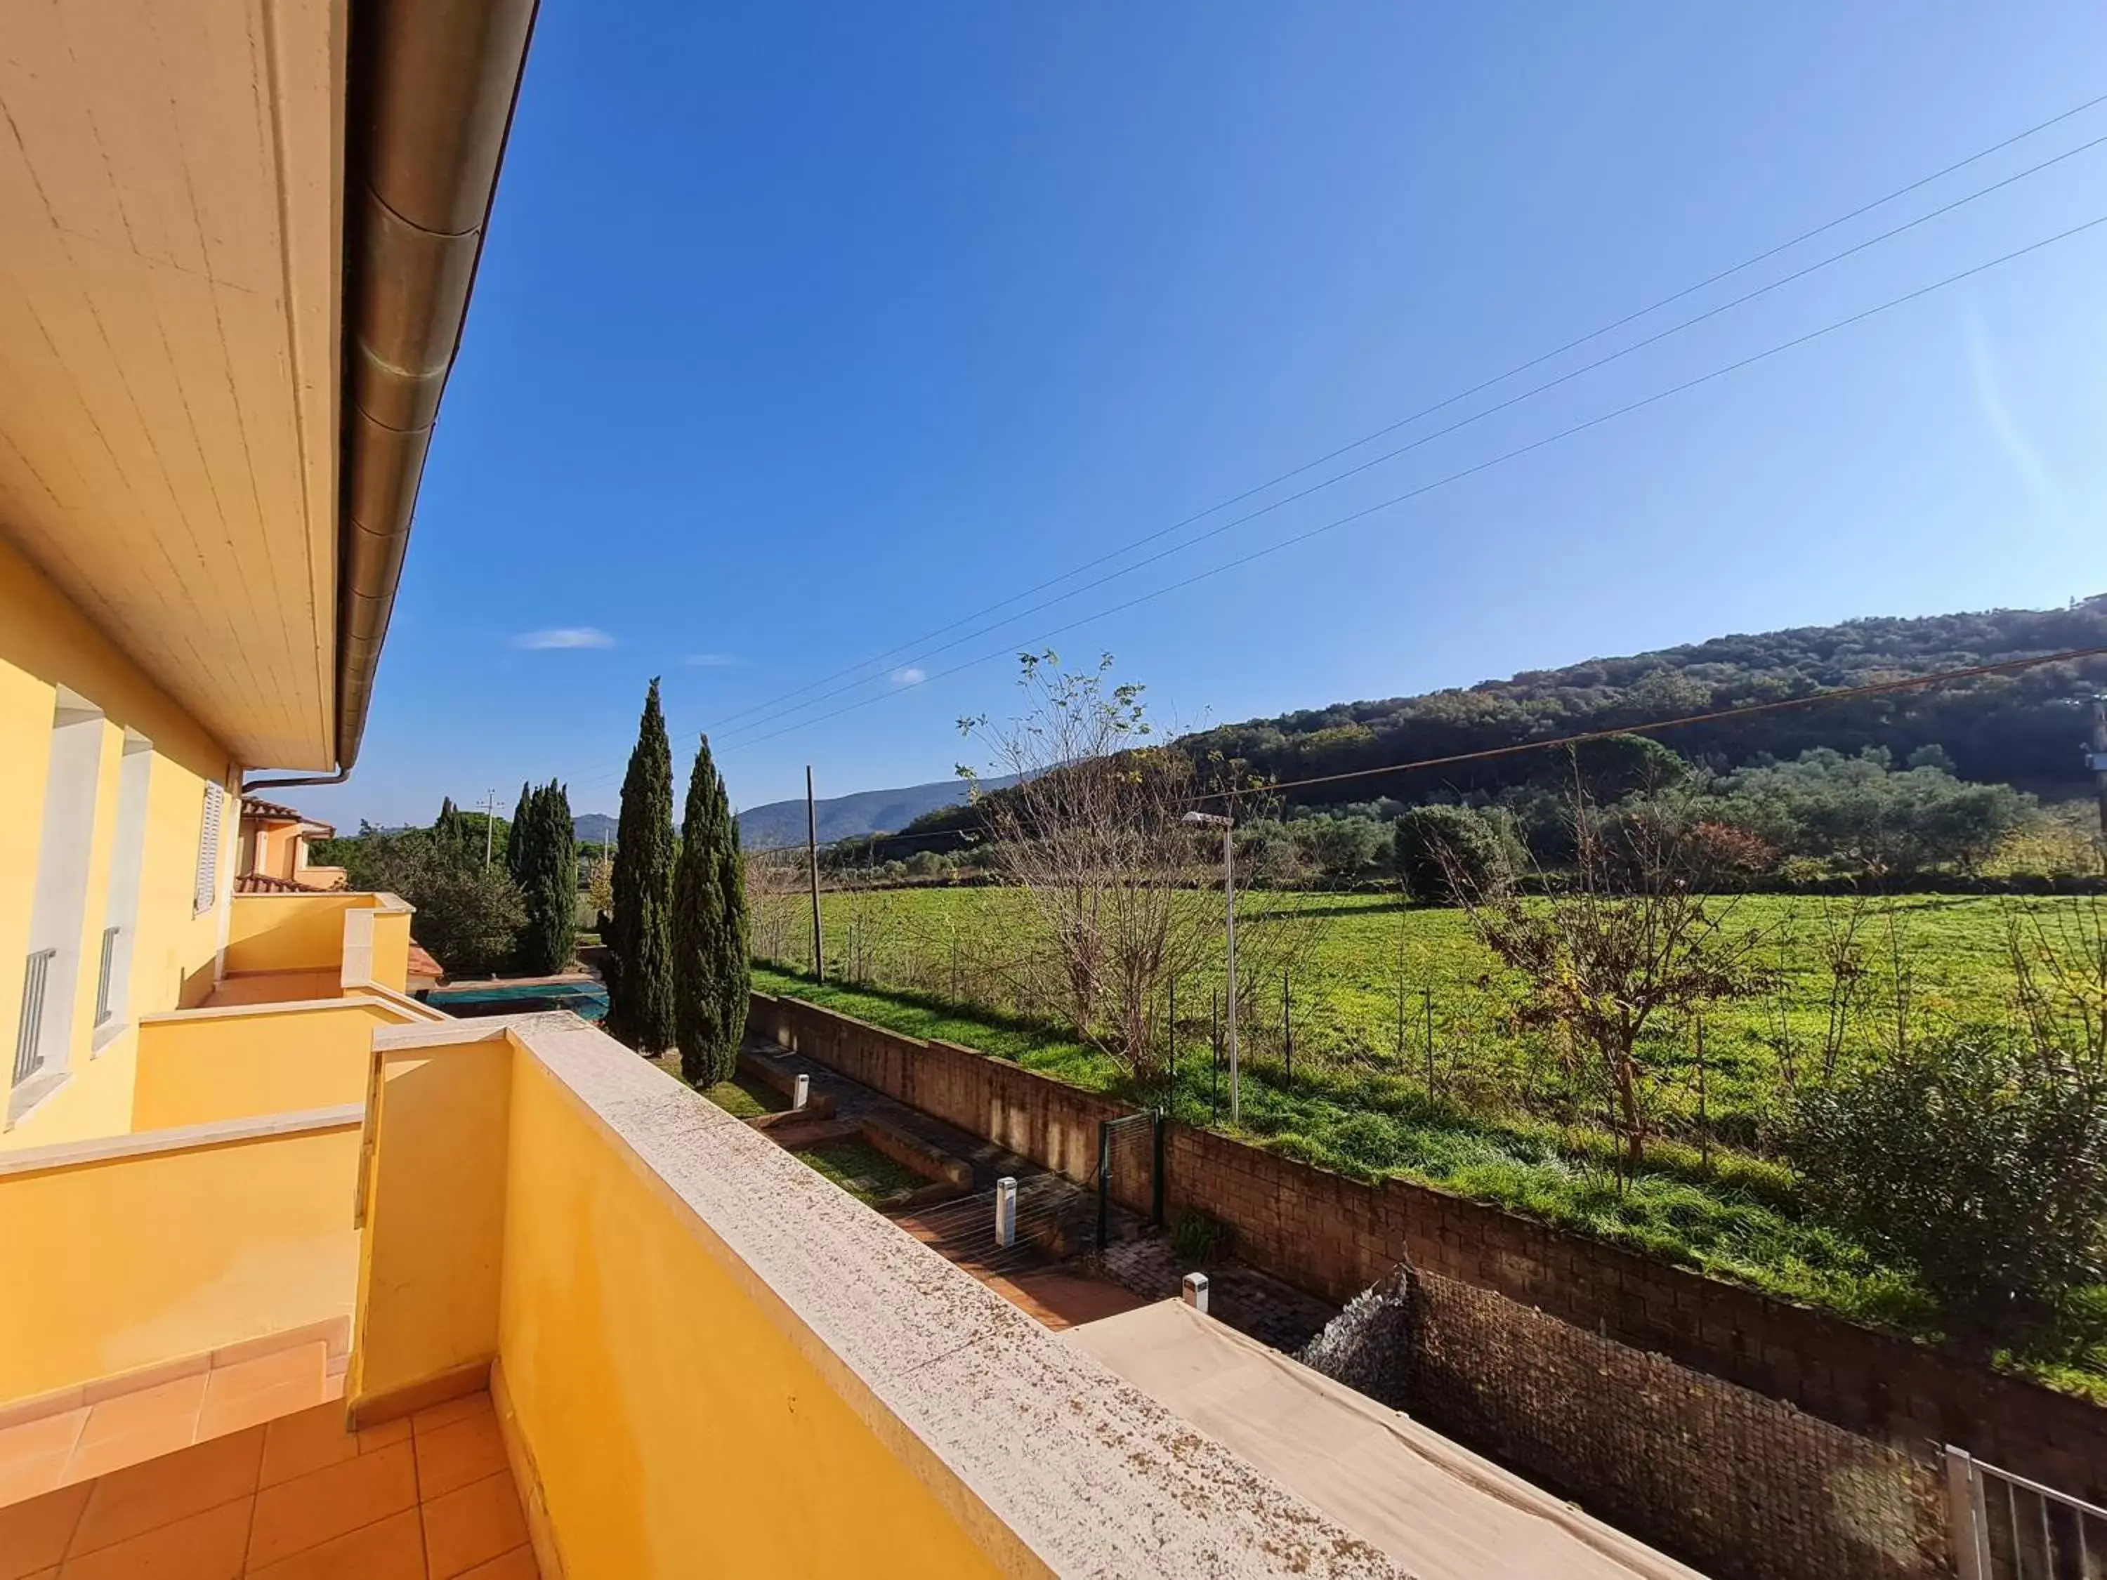
<instances>
[{"instance_id":1,"label":"bright green grass field between brick wall and wooded hill","mask_svg":"<svg viewBox=\"0 0 2107 1580\"><path fill-rule=\"evenodd\" d=\"M1591 1110L1584 1093L1576 1095L1551 1049L1507 1024L1513 984L1462 914L1372 895L1300 895L1294 904L1323 912L1304 969L1289 980L1294 1070L1283 1060L1281 988L1262 984L1245 1020L1241 1133L1323 1167L1448 1186L1715 1277L1936 1336L1936 1310L1913 1279L1804 1213L1791 1171L1761 1146L1785 1091L1780 1015L1797 1055L1818 1060L1827 1022L1814 942L1820 902L1740 902L1736 925L1770 935L1783 994L1709 1015L1702 1133L1694 1125L1696 1062L1686 1058L1692 1028L1673 1028L1660 1049L1667 1074L1652 1093L1658 1135L1629 1182L1614 1173L1614 1138L1599 1106ZM2002 1015L2012 904L2046 906L2054 925L2054 908L2078 902L1903 897L1869 914L1860 933L1873 967L1869 1005L1844 1058L1879 1058L1890 1045L1894 961L1909 1026ZM830 973L855 967L864 980L815 986L803 973L761 967L754 986L965 1043L1089 1089L1159 1100L1159 1091L1131 1091L1110 1058L1005 996L990 954L1028 925L1022 906L1003 889L830 893ZM771 942L769 923L763 914L756 948ZM796 937L790 927L784 933ZM1180 986L1174 1108L1188 1123L1230 1129L1212 1058L1209 986ZM2021 1369L2107 1401L2107 1346L2069 1348Z\"/></svg>"}]
</instances>

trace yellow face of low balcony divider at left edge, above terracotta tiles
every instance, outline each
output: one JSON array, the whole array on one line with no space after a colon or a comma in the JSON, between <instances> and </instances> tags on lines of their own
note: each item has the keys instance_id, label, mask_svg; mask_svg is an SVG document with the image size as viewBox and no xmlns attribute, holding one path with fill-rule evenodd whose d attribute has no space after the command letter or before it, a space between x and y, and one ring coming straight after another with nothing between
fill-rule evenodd
<instances>
[{"instance_id":1,"label":"yellow face of low balcony divider at left edge, above terracotta tiles","mask_svg":"<svg viewBox=\"0 0 2107 1580\"><path fill-rule=\"evenodd\" d=\"M358 1129L0 1178L0 1403L348 1317Z\"/></svg>"}]
</instances>

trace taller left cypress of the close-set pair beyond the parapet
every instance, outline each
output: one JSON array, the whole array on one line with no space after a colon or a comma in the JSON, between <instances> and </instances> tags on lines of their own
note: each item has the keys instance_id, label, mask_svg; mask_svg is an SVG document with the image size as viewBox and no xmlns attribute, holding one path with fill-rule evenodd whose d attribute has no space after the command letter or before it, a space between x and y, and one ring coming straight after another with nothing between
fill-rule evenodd
<instances>
[{"instance_id":1,"label":"taller left cypress of the close-set pair beyond the parapet","mask_svg":"<svg viewBox=\"0 0 2107 1580\"><path fill-rule=\"evenodd\" d=\"M622 779L611 921L607 1030L641 1053L664 1053L672 1047L672 748L657 676Z\"/></svg>"}]
</instances>

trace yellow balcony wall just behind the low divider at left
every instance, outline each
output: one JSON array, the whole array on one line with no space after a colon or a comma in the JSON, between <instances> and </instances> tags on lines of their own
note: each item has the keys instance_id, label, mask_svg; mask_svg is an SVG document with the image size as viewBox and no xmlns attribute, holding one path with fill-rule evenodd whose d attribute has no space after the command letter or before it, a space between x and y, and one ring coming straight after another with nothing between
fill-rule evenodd
<instances>
[{"instance_id":1,"label":"yellow balcony wall just behind the low divider at left","mask_svg":"<svg viewBox=\"0 0 2107 1580\"><path fill-rule=\"evenodd\" d=\"M169 1129L367 1100L373 1030L407 1015L377 999L192 1009L139 1028L126 1129Z\"/></svg>"}]
</instances>

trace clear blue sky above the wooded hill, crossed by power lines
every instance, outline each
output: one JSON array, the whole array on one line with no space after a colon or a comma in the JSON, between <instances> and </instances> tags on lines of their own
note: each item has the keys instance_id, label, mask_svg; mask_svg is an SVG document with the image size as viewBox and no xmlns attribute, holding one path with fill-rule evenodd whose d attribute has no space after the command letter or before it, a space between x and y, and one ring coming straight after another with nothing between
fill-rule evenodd
<instances>
[{"instance_id":1,"label":"clear blue sky above the wooded hill, crossed by power lines","mask_svg":"<svg viewBox=\"0 0 2107 1580\"><path fill-rule=\"evenodd\" d=\"M805 763L822 794L944 777L1013 674L952 664L2094 219L2107 147L925 632L2101 93L2075 2L544 0L365 756L301 805L421 822L558 775L613 811L651 674L740 805ZM2094 137L2107 105L1296 487ZM1054 645L1197 725L2099 592L2101 278L2107 225Z\"/></svg>"}]
</instances>

